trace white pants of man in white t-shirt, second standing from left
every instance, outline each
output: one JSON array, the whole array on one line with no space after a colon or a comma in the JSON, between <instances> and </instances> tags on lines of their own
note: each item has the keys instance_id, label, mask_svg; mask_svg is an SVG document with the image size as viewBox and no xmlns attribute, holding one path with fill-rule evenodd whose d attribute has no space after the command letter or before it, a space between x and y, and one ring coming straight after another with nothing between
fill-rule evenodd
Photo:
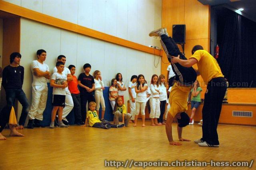
<instances>
[{"instance_id":1,"label":"white pants of man in white t-shirt, second standing from left","mask_svg":"<svg viewBox=\"0 0 256 170\"><path fill-rule=\"evenodd\" d=\"M47 85L32 86L32 102L28 112L28 119L43 120L44 109L46 108L48 87Z\"/></svg>"}]
</instances>

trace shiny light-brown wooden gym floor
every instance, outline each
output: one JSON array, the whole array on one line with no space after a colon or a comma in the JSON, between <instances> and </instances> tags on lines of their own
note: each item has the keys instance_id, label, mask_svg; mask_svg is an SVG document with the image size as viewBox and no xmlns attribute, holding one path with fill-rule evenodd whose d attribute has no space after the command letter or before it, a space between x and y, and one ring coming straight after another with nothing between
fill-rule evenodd
<instances>
[{"instance_id":1,"label":"shiny light-brown wooden gym floor","mask_svg":"<svg viewBox=\"0 0 256 170\"><path fill-rule=\"evenodd\" d=\"M192 141L182 142L182 146L171 146L166 138L165 127L152 127L149 123L146 122L146 127L130 125L120 129L70 126L19 130L26 135L25 137L9 137L9 130L4 129L2 134L7 140L0 141L0 169L104 169L106 168L104 160L232 162L250 161L256 158L254 127L219 125L220 147L207 148L200 147ZM141 125L141 122L138 124ZM177 141L176 124L173 125L173 131L174 139ZM188 125L183 130L183 137L190 140L200 138L201 134L202 127L199 125ZM164 167L146 169L162 168ZM186 168L206 169L206 167ZM207 168L234 169L234 167L210 166ZM254 168L256 168L255 162L252 166L252 169Z\"/></svg>"}]
</instances>

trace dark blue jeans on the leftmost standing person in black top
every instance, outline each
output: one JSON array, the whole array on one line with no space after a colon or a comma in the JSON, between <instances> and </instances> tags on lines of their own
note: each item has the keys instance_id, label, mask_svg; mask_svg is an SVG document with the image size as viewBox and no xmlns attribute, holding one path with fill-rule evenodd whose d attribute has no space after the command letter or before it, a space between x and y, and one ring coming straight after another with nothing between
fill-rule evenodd
<instances>
[{"instance_id":1,"label":"dark blue jeans on the leftmost standing person in black top","mask_svg":"<svg viewBox=\"0 0 256 170\"><path fill-rule=\"evenodd\" d=\"M17 99L22 105L22 111L20 115L19 125L24 126L28 115L28 99L22 89L6 89L6 102L7 105L14 106L15 99Z\"/></svg>"}]
</instances>

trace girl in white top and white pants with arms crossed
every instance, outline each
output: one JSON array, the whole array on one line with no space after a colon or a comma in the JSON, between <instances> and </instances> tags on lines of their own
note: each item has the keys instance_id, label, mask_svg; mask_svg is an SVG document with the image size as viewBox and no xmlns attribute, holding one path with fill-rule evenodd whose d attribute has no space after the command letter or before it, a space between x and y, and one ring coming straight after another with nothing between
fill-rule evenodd
<instances>
[{"instance_id":1,"label":"girl in white top and white pants with arms crossed","mask_svg":"<svg viewBox=\"0 0 256 170\"><path fill-rule=\"evenodd\" d=\"M160 116L160 100L159 100L159 81L158 81L158 76L156 74L152 75L151 78L151 84L150 84L150 91L151 91L151 96L150 96L150 119L151 119L151 126L156 126L156 125L162 125L159 124L157 119Z\"/></svg>"}]
</instances>

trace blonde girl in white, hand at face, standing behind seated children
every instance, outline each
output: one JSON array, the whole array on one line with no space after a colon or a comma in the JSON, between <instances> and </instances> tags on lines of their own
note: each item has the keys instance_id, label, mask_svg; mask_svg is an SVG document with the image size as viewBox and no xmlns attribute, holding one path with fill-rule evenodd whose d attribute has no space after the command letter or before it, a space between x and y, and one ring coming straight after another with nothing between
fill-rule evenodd
<instances>
[{"instance_id":1,"label":"blonde girl in white, hand at face, standing behind seated children","mask_svg":"<svg viewBox=\"0 0 256 170\"><path fill-rule=\"evenodd\" d=\"M100 121L102 122L106 122L106 120L104 119L104 114L105 114L105 101L104 101L104 97L103 97L103 90L104 88L104 84L102 82L102 77L101 77L101 73L100 71L96 70L93 73L93 77L94 77L94 82L95 82L95 101L96 101L96 112L99 116L99 110L100 110L100 105L101 105L101 119Z\"/></svg>"}]
</instances>

